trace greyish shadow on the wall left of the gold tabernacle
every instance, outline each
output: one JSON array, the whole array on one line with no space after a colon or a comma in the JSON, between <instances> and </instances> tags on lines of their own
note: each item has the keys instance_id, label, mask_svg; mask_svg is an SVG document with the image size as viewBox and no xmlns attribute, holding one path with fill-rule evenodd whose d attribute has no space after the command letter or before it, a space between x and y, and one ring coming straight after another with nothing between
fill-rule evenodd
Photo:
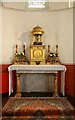
<instances>
[{"instance_id":1,"label":"greyish shadow on the wall left of the gold tabernacle","mask_svg":"<svg viewBox=\"0 0 75 120\"><path fill-rule=\"evenodd\" d=\"M11 61L14 58L14 54L15 54L15 50L16 50L16 44L18 45L18 52L23 51L23 45L25 45L26 57L29 60L30 59L30 44L31 44L31 41L32 41L31 31L28 30L26 32L23 32L20 35L20 37L15 41L15 45L13 45L12 57L10 58Z\"/></svg>"}]
</instances>

